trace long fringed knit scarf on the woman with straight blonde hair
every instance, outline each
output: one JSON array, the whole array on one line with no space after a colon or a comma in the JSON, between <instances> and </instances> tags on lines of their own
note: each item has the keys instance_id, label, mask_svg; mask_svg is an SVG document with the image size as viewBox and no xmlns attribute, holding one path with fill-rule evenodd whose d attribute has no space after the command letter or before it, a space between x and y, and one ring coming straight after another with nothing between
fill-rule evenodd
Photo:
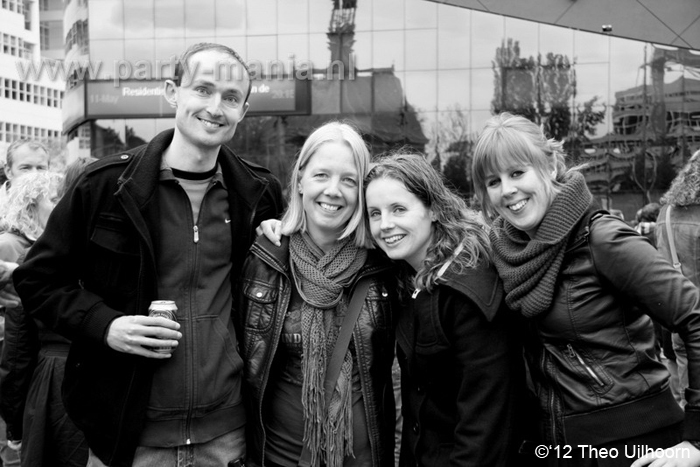
<instances>
[{"instance_id":1,"label":"long fringed knit scarf on the woman with straight blonde hair","mask_svg":"<svg viewBox=\"0 0 700 467\"><path fill-rule=\"evenodd\" d=\"M289 251L292 273L304 299L301 309L301 360L304 382L304 443L311 451L311 466L323 461L342 467L353 455L352 356L345 354L333 394L324 395L328 359L338 338L336 316L344 317L348 300L343 294L367 258L367 250L344 239L324 253L306 233L293 234ZM328 413L324 397L331 397Z\"/></svg>"}]
</instances>

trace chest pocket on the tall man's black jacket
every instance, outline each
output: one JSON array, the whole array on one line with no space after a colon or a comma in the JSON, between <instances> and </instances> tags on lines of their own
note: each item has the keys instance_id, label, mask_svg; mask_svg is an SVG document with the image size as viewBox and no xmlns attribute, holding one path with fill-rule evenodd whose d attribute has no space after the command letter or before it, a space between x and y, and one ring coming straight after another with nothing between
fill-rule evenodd
<instances>
[{"instance_id":1,"label":"chest pocket on the tall man's black jacket","mask_svg":"<svg viewBox=\"0 0 700 467\"><path fill-rule=\"evenodd\" d=\"M86 282L110 294L117 291L133 295L138 286L140 253L136 233L127 221L101 214L90 236L89 249L92 274Z\"/></svg>"}]
</instances>

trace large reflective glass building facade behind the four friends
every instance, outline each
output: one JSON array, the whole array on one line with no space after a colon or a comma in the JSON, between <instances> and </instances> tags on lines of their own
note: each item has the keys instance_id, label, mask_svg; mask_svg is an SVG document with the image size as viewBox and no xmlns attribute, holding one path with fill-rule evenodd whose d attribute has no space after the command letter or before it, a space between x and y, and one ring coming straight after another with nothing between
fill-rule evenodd
<instances>
[{"instance_id":1,"label":"large reflective glass building facade behind the four friends","mask_svg":"<svg viewBox=\"0 0 700 467\"><path fill-rule=\"evenodd\" d=\"M92 79L138 64L153 65L149 79L167 78L196 42L231 46L263 74L306 70L310 115L248 116L232 142L283 179L306 135L338 118L355 122L374 152L424 151L466 195L472 144L499 111L564 139L604 201L653 199L700 147L694 51L425 0L69 0L64 31L67 62L100 64ZM329 71L334 63L343 70ZM65 128L69 144L99 157L173 125L112 117Z\"/></svg>"}]
</instances>

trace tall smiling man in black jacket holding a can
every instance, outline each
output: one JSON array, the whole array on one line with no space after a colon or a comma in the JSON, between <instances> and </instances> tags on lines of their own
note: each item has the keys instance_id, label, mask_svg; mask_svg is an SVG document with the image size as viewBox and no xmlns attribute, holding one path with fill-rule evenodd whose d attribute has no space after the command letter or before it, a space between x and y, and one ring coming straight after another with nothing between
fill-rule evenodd
<instances>
[{"instance_id":1,"label":"tall smiling man in black jacket holding a can","mask_svg":"<svg viewBox=\"0 0 700 467\"><path fill-rule=\"evenodd\" d=\"M90 164L14 273L25 309L71 340L63 401L89 467L245 457L233 290L283 205L277 179L226 146L250 89L234 50L189 47L164 86L175 128ZM154 300L176 319L148 316Z\"/></svg>"}]
</instances>

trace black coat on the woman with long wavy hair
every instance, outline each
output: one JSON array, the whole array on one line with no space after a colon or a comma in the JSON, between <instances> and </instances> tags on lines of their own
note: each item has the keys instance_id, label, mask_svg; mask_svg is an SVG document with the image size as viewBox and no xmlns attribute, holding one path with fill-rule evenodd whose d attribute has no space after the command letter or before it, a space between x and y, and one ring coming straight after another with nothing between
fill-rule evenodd
<instances>
[{"instance_id":1,"label":"black coat on the woman with long wavy hair","mask_svg":"<svg viewBox=\"0 0 700 467\"><path fill-rule=\"evenodd\" d=\"M447 269L396 330L402 467L505 466L517 451L522 346L492 266Z\"/></svg>"}]
</instances>

